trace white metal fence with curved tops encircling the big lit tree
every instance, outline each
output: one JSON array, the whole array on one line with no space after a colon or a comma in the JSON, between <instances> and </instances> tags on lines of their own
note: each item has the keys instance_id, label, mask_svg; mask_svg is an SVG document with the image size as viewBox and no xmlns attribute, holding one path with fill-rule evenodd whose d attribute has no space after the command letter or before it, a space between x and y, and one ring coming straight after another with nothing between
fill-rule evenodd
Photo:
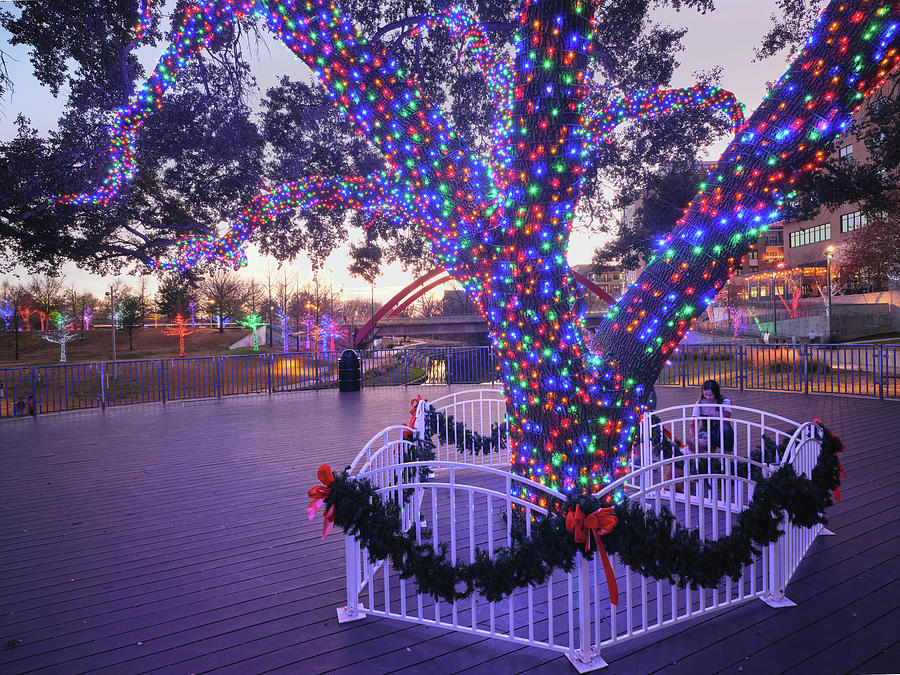
<instances>
[{"instance_id":1,"label":"white metal fence with curved tops encircling the big lit tree","mask_svg":"<svg viewBox=\"0 0 900 675\"><path fill-rule=\"evenodd\" d=\"M498 392L472 390L434 402L455 420L479 433L489 433L500 419ZM625 495L648 511L672 512L677 522L715 540L732 531L737 515L753 497L754 477L768 476L782 463L809 476L821 448L821 429L763 411L734 407L734 452L691 452L669 458L654 456L651 439L668 432L674 443L690 429L692 406L660 410L642 420L641 440L632 471L601 493ZM403 440L408 427L385 429L360 452L352 474L375 485L384 499L401 504L403 526L419 543L447 546L450 561L471 563L476 550L495 554L513 542L513 512L524 512L526 535L532 517L565 496L505 470L504 456L461 456L455 444L438 448L433 461L407 462L413 443ZM763 436L784 449L766 463L766 454L750 455ZM715 445L715 444L713 444ZM715 447L714 447L715 449ZM774 461L773 461L774 460ZM517 497L526 488L537 503ZM404 493L406 499L404 500ZM428 528L428 529L426 529ZM763 547L739 579L725 578L716 588L680 588L677 583L642 576L613 556L619 603L609 601L598 557L579 555L573 572L555 572L539 586L522 588L500 602L477 594L454 602L419 593L415 580L399 578L383 561L370 561L357 540L346 538L347 607L341 620L381 616L509 640L564 653L580 670L602 667L601 648L675 625L723 607L761 598L769 604L791 604L784 588L821 528L787 524L785 535ZM428 536L426 539L426 532Z\"/></svg>"}]
</instances>

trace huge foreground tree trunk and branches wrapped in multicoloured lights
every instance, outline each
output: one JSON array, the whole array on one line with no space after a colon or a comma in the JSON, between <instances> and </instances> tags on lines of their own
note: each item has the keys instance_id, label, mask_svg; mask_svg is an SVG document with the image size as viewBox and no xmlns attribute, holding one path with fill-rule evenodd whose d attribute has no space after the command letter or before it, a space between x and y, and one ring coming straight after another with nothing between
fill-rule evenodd
<instances>
[{"instance_id":1,"label":"huge foreground tree trunk and branches wrapped in multicoloured lights","mask_svg":"<svg viewBox=\"0 0 900 675\"><path fill-rule=\"evenodd\" d=\"M313 71L334 105L385 158L382 171L306 176L266 187L221 237L184 240L185 269L205 260L244 264L261 225L296 209L348 208L414 222L432 254L489 323L504 382L513 471L570 493L624 472L637 415L671 351L749 246L849 127L864 97L898 61L900 5L832 2L805 48L741 124L720 89L637 91L609 99L591 79L594 7L525 0L514 58L452 7L441 26L483 73L494 122L484 153L467 147L389 47L367 39L326 0L217 0L191 5L173 42L111 127L103 184L61 204L109 204L136 171L134 137L162 107L188 57L248 14ZM638 281L604 320L596 352L582 337L584 291L567 260L583 179L615 128L679 107L712 106L739 125L700 193ZM523 494L534 498L533 495Z\"/></svg>"}]
</instances>

